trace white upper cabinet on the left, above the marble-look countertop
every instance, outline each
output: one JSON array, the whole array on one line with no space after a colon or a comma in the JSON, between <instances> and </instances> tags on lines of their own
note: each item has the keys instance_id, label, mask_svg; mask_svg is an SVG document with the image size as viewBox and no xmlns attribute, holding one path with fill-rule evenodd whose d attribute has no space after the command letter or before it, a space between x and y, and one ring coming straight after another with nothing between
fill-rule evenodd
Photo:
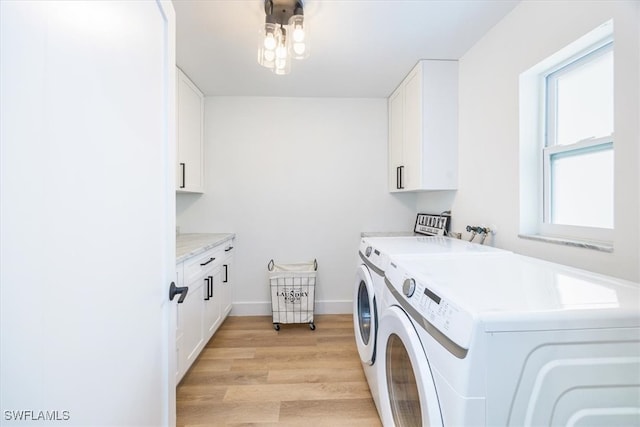
<instances>
[{"instance_id":1,"label":"white upper cabinet on the left, above the marble-look countertop","mask_svg":"<svg viewBox=\"0 0 640 427\"><path fill-rule=\"evenodd\" d=\"M180 69L176 72L178 192L204 192L204 95Z\"/></svg>"}]
</instances>

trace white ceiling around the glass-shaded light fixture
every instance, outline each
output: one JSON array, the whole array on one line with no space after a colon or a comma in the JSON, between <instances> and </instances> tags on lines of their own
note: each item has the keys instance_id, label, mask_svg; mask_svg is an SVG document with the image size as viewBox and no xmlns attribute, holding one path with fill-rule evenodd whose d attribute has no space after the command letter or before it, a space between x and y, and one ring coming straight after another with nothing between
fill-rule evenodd
<instances>
[{"instance_id":1,"label":"white ceiling around the glass-shaded light fixture","mask_svg":"<svg viewBox=\"0 0 640 427\"><path fill-rule=\"evenodd\" d=\"M178 66L214 96L384 98L419 59L459 59L519 0L306 0L310 57L257 62L263 0L173 0Z\"/></svg>"}]
</instances>

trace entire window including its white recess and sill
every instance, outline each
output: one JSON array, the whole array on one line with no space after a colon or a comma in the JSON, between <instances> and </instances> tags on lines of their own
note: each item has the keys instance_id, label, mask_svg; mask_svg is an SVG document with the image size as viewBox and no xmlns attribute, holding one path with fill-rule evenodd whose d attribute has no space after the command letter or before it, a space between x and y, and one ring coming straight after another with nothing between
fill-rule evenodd
<instances>
[{"instance_id":1,"label":"entire window including its white recess and sill","mask_svg":"<svg viewBox=\"0 0 640 427\"><path fill-rule=\"evenodd\" d=\"M612 250L613 23L520 75L520 236Z\"/></svg>"}]
</instances>

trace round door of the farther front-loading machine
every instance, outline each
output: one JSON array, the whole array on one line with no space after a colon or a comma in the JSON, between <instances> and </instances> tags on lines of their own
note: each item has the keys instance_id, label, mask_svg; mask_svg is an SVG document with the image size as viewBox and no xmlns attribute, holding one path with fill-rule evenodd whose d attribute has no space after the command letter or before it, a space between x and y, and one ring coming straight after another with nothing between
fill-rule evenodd
<instances>
[{"instance_id":1,"label":"round door of the farther front-loading machine","mask_svg":"<svg viewBox=\"0 0 640 427\"><path fill-rule=\"evenodd\" d=\"M353 294L353 328L360 360L368 365L373 365L376 356L378 313L373 280L365 265L360 265L356 272Z\"/></svg>"}]
</instances>

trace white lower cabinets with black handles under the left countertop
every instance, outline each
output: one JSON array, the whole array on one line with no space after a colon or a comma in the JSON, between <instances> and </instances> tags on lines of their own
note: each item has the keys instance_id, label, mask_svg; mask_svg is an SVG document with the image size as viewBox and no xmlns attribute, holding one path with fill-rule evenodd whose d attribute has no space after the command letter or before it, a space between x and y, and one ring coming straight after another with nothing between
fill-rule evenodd
<instances>
[{"instance_id":1,"label":"white lower cabinets with black handles under the left countertop","mask_svg":"<svg viewBox=\"0 0 640 427\"><path fill-rule=\"evenodd\" d=\"M189 288L176 313L176 384L231 311L233 240L177 265L178 286Z\"/></svg>"}]
</instances>

